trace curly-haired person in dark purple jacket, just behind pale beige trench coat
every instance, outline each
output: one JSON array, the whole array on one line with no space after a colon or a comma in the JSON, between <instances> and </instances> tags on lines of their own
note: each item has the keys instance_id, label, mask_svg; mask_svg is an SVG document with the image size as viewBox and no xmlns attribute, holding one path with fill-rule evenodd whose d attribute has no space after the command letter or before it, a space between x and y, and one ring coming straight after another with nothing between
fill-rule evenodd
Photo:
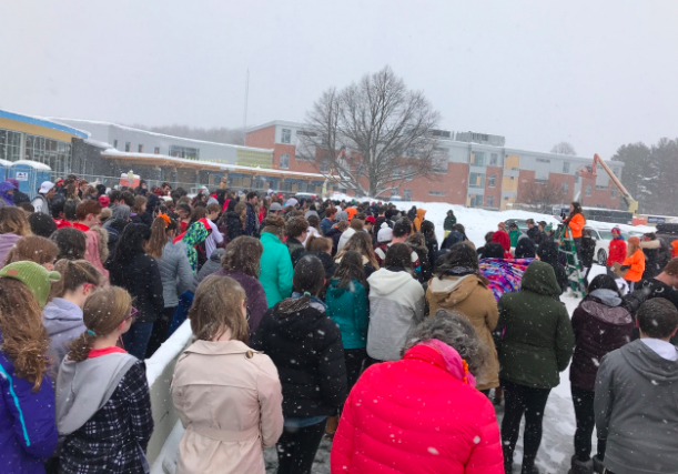
<instances>
[{"instance_id":1,"label":"curly-haired person in dark purple jacket, just behind pale beige trench coat","mask_svg":"<svg viewBox=\"0 0 678 474\"><path fill-rule=\"evenodd\" d=\"M221 259L222 269L214 273L215 275L232 278L245 290L250 334L254 334L269 309L266 293L259 282L260 261L263 251L264 248L257 239L239 236L229 242L226 252Z\"/></svg>"}]
</instances>

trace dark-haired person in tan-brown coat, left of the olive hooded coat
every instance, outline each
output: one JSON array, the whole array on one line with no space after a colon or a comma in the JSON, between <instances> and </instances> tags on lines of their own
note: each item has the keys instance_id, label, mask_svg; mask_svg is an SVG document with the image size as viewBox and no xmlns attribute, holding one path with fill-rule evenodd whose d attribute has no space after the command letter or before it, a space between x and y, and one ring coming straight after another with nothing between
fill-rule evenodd
<instances>
[{"instance_id":1,"label":"dark-haired person in tan-brown coat, left of the olive hooded coat","mask_svg":"<svg viewBox=\"0 0 678 474\"><path fill-rule=\"evenodd\" d=\"M438 263L426 291L428 313L439 309L463 313L476 330L478 339L494 354L476 376L476 389L486 394L499 386L499 361L492 337L499 312L492 290L478 274L476 252L464 243L449 249Z\"/></svg>"}]
</instances>

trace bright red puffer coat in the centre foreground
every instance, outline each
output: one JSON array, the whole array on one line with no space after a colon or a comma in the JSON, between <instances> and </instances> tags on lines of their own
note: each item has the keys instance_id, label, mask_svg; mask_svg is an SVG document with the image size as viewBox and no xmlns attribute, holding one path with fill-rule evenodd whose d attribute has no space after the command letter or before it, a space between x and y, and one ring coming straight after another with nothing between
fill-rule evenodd
<instances>
[{"instance_id":1,"label":"bright red puffer coat in the centre foreground","mask_svg":"<svg viewBox=\"0 0 678 474\"><path fill-rule=\"evenodd\" d=\"M418 344L367 369L344 405L332 473L504 473L492 403L447 367Z\"/></svg>"}]
</instances>

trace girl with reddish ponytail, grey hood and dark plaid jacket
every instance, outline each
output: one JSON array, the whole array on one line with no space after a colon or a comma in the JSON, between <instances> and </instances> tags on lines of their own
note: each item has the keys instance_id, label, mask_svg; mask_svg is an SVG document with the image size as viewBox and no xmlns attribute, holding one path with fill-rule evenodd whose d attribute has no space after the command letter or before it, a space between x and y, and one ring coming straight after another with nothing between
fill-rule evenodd
<instances>
[{"instance_id":1,"label":"girl with reddish ponytail, grey hood and dark plaid jacket","mask_svg":"<svg viewBox=\"0 0 678 474\"><path fill-rule=\"evenodd\" d=\"M153 417L145 365L119 347L135 315L132 297L118 286L97 290L84 303L87 330L57 379L60 474L149 472Z\"/></svg>"}]
</instances>

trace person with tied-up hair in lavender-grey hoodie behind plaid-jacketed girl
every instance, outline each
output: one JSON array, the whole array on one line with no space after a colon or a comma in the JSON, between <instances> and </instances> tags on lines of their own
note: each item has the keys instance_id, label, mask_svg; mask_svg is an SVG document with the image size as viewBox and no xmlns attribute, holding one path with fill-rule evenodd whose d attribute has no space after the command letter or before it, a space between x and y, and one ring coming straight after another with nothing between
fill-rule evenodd
<instances>
[{"instance_id":1,"label":"person with tied-up hair in lavender-grey hoodie behind plaid-jacketed girl","mask_svg":"<svg viewBox=\"0 0 678 474\"><path fill-rule=\"evenodd\" d=\"M87 260L65 259L57 262L54 271L61 274L61 281L52 285L53 297L44 306L43 324L50 336L55 383L68 345L85 331L82 307L101 284L101 273Z\"/></svg>"}]
</instances>

